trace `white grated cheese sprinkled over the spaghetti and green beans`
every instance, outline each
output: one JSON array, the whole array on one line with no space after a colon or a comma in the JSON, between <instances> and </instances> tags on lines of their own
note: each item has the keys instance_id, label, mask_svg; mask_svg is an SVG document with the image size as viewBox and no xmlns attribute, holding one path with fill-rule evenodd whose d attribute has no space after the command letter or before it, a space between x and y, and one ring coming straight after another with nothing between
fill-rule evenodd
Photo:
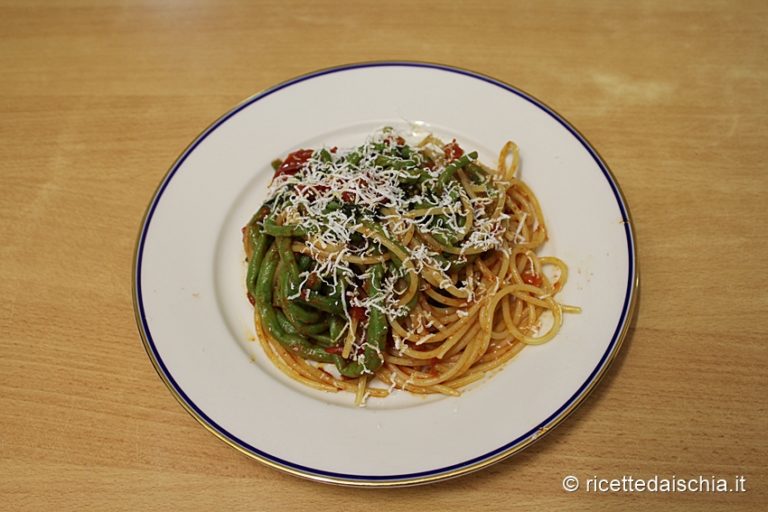
<instances>
[{"instance_id":1,"label":"white grated cheese sprinkled over the spaghetti and green beans","mask_svg":"<svg viewBox=\"0 0 768 512\"><path fill-rule=\"evenodd\" d=\"M399 305L399 299L405 292L400 285L407 278L406 266L412 267L418 274L429 271L437 279L433 282L437 282L440 289L455 286L466 292L468 303L486 288L474 272L467 272L462 282L454 283L449 276L451 260L463 264L467 261L465 251L469 249L488 251L504 246L503 236L511 216L503 212L494 216L494 210L500 194L505 193L509 184L496 180L493 183L495 188L491 188L491 180L486 178L478 186L486 187L488 184L487 195L470 195L459 180L451 179L442 184L438 192L439 178L447 165L443 148L430 136L418 148L409 146L407 157L401 156L395 151L397 138L394 131L385 128L357 148L315 151L295 174L280 174L273 179L267 205L283 224L299 225L306 231L305 245L315 261L311 271L300 273L298 289L289 299L299 298L310 275L315 274L322 284L334 293L340 293L349 325L352 307L366 311L376 309L390 319L407 314L408 309ZM434 160L432 168L423 165L425 157L422 154ZM386 168L381 165L383 159L387 160ZM414 172L419 173L416 182ZM409 215L409 212L415 213ZM470 215L472 229L464 233L465 219ZM525 220L526 214L523 214L513 236L514 241L522 239ZM374 297L364 296L358 291L358 284L370 274L358 274L355 267L348 263L348 258L376 257L386 252L379 242L358 234L366 223L375 224L393 240L400 239L409 230L437 236L437 239L454 244L459 254L449 260L429 245L413 242L408 247L404 264L389 266L381 283L381 293ZM498 288L498 280L494 286ZM461 310L457 314L459 317L467 315ZM433 322L424 325L419 319L408 334L410 336L414 331L422 334L433 326ZM361 328L365 326L361 325ZM347 336L353 334L347 332ZM421 337L419 343L428 342L431 336ZM392 338L395 349L402 354L406 348L405 341L395 333L392 333ZM371 373L365 367L366 346L371 347L366 343L361 345L361 341L355 339L350 352L352 359L361 364L366 373ZM378 351L377 347L372 348Z\"/></svg>"}]
</instances>

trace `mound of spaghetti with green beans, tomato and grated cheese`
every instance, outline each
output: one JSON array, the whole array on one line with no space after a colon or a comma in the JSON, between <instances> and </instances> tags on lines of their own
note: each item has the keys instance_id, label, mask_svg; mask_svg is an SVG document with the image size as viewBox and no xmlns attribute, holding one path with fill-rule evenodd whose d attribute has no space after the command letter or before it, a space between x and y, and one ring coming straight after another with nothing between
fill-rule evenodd
<instances>
[{"instance_id":1,"label":"mound of spaghetti with green beans, tomato and grated cheese","mask_svg":"<svg viewBox=\"0 0 768 512\"><path fill-rule=\"evenodd\" d=\"M519 165L512 142L492 169L455 140L412 146L390 128L273 162L243 228L270 360L363 405L395 388L458 396L552 339L578 308L554 299L568 269L537 254L547 230Z\"/></svg>"}]
</instances>

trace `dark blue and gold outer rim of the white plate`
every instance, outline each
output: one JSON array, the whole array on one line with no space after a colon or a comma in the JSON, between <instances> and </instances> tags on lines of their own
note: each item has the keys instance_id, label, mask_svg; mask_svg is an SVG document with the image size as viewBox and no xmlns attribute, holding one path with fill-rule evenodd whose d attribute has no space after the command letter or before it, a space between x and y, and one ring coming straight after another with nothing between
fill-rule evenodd
<instances>
[{"instance_id":1,"label":"dark blue and gold outer rim of the white plate","mask_svg":"<svg viewBox=\"0 0 768 512\"><path fill-rule=\"evenodd\" d=\"M311 80L313 78L317 78L323 75L328 75L332 73L343 73L345 71L350 71L350 70L355 70L360 68L371 68L371 67L429 68L429 69L439 70L446 73L455 73L455 74L464 75L466 77L470 77L476 80L481 80L483 82L499 87L511 94L515 94L520 98L530 102L534 106L538 107L549 116L551 116L552 119L554 119L564 128L566 128L580 142L580 144L584 147L584 149L587 150L587 152L590 154L592 159L595 161L595 163L598 165L598 167L602 171L606 181L610 185L611 191L613 192L614 198L621 212L622 222L624 225L624 233L626 236L627 253L629 256L628 273L627 273L628 278L626 283L624 303L622 306L622 311L621 311L619 321L611 337L611 342L608 344L608 347L606 348L605 352L600 358L598 364L589 374L587 379L581 384L581 386L571 395L571 397L560 408L554 411L539 425L532 428L522 436L519 436L513 439L512 441L504 444L503 446L500 446L488 453L463 461L459 464L453 464L450 466L441 467L441 468L437 468L429 471L422 471L422 472L408 473L408 474L395 474L395 475L354 475L354 474L329 472L329 471L324 471L316 468L303 466L301 464L297 464L295 462L291 462L288 460L283 460L279 457L275 457L269 453L259 450L255 446L252 446L242 441L241 439L238 439L236 436L232 435L231 433L227 432L224 428L218 425L211 417L209 417L203 410L201 410L189 398L189 396L187 396L184 390L178 385L173 375L171 375L163 359L160 357L160 354L157 350L155 341L152 337L152 333L150 331L149 325L146 320L143 292L142 292L142 286L141 286L142 261L143 261L143 255L144 255L145 238L146 238L148 228L152 222L155 208L158 202L160 201L161 197L163 196L163 192L165 191L170 181L173 179L176 172L184 164L184 161L187 159L187 157L195 150L195 148L202 141L204 141L208 137L208 135L214 132L219 126L226 123L233 116L236 116L238 112L247 108L249 105L256 103L257 101L263 98L266 98L267 96L274 94L282 89L286 89L300 82ZM473 71L465 70L465 69L446 66L442 64L412 62L412 61L365 62L365 63L349 64L349 65L343 65L343 66L315 71L312 73L308 73L308 74L293 78L279 85L276 85L270 89L262 91L261 93L258 93L252 96L251 98L245 100L243 103L241 103L240 105L236 106L235 108L230 110L228 113L223 115L221 118L215 121L211 126L209 126L205 131L203 131L203 133L201 133L189 145L189 147L186 148L186 150L176 160L176 162L173 164L171 169L168 171L168 173L165 175L160 185L158 186L152 201L147 207L147 210L144 214L144 218L141 223L141 228L139 231L139 236L138 236L136 247L135 247L134 267L133 267L134 312L136 315L136 322L138 325L139 333L144 342L145 349L153 365L155 366L155 369L157 370L158 374L160 375L162 380L165 382L165 384L168 386L171 393L176 397L176 399L181 403L181 405L195 419L197 419L206 429L211 431L213 434L215 434L217 437L225 441L230 446L236 448L238 451L252 458L255 458L263 463L266 463L267 465L272 466L274 468L283 470L285 472L288 472L297 476L313 479L313 480L342 484L342 485L368 486L368 487L416 485L416 484L434 482L438 480L444 480L444 479L460 476L463 474L476 471L478 469L486 467L495 462L498 462L514 453L519 452L523 448L529 446L534 441L540 439L544 434L549 432L552 428L558 425L563 419L565 419L565 417L568 414L570 414L576 408L576 406L578 406L586 398L586 396L594 388L594 386L597 384L600 378L605 374L610 363L615 359L624 341L624 338L627 335L627 331L629 329L630 321L634 313L634 309L637 302L636 297L637 297L638 287L639 287L639 278L638 278L637 265L636 265L635 236L633 231L633 224L629 214L629 208L627 207L626 200L624 199L624 196L619 188L618 183L616 182L615 177L613 176L613 173L609 170L605 162L603 162L603 160L600 158L597 151L587 142L586 138L583 135L581 135L581 133L579 133L573 126L570 125L570 123L568 123L565 119L563 119L563 117L557 114L554 110L552 110L551 108L549 108L548 106L546 106L544 103L534 98L533 96L509 84L506 84L494 78L491 78L479 73L475 73Z\"/></svg>"}]
</instances>

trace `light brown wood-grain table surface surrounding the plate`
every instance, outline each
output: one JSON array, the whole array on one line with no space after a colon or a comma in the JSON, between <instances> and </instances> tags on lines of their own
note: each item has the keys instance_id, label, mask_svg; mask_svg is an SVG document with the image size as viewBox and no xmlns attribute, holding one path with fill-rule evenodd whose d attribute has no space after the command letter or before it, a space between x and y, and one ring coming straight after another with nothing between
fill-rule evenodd
<instances>
[{"instance_id":1,"label":"light brown wood-grain table surface surrounding the plate","mask_svg":"<svg viewBox=\"0 0 768 512\"><path fill-rule=\"evenodd\" d=\"M0 509L764 509L767 7L2 2ZM621 182L642 275L621 355L561 427L385 491L215 439L157 377L131 303L139 223L176 155L264 87L373 59L470 68L560 111ZM569 494L570 474L744 475L747 491Z\"/></svg>"}]
</instances>

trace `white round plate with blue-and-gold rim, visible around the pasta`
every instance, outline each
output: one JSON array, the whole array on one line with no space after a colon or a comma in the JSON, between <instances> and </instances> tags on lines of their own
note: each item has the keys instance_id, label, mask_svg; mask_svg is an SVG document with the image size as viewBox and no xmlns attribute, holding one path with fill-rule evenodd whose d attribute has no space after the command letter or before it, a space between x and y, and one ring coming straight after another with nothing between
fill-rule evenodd
<instances>
[{"instance_id":1,"label":"white round plate with blue-and-gold rim, visible around the pasta","mask_svg":"<svg viewBox=\"0 0 768 512\"><path fill-rule=\"evenodd\" d=\"M588 101L586 99L585 101ZM426 123L492 163L508 139L565 260L567 315L460 398L352 396L283 376L253 342L240 228L291 150L361 143L385 125ZM136 318L152 362L208 430L262 462L350 485L408 485L485 467L557 425L592 389L627 332L635 243L616 180L587 141L529 95L492 78L413 62L343 66L264 91L205 130L152 199L134 270Z\"/></svg>"}]
</instances>

